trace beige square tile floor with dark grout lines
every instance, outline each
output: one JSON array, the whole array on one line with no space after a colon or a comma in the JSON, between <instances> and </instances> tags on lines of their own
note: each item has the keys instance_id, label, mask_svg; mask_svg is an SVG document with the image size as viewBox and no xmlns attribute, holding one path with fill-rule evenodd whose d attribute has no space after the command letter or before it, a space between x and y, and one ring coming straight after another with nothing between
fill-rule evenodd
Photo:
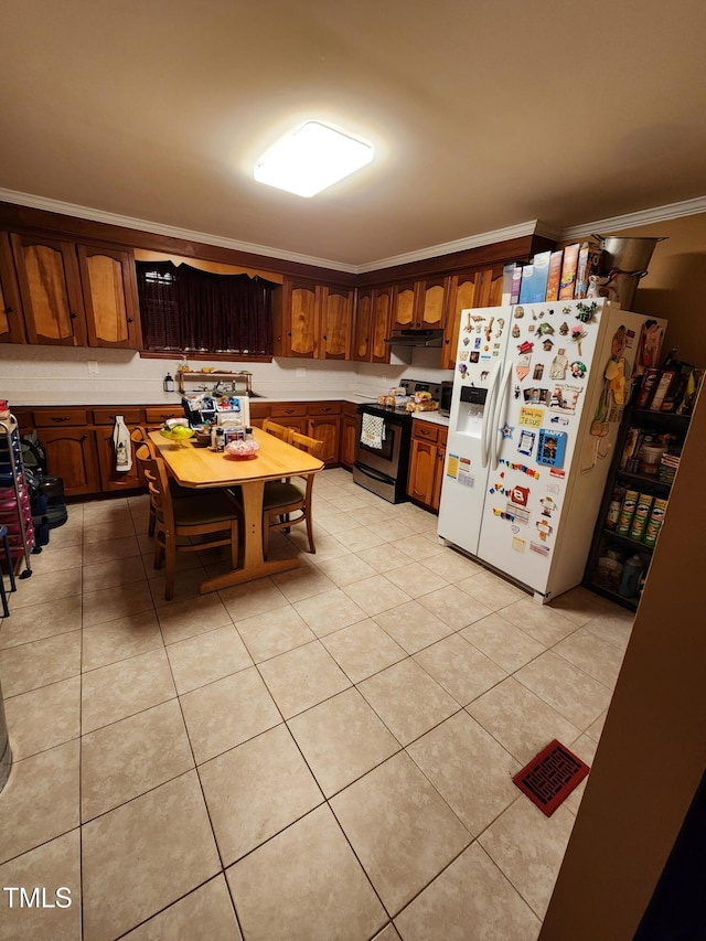
<instances>
[{"instance_id":1,"label":"beige square tile floor with dark grout lines","mask_svg":"<svg viewBox=\"0 0 706 941\"><path fill-rule=\"evenodd\" d=\"M584 785L546 819L511 776L591 762L631 616L536 605L340 469L315 520L298 570L202 597L185 556L165 603L146 498L69 506L0 627L0 886L45 889L0 939L536 938Z\"/></svg>"}]
</instances>

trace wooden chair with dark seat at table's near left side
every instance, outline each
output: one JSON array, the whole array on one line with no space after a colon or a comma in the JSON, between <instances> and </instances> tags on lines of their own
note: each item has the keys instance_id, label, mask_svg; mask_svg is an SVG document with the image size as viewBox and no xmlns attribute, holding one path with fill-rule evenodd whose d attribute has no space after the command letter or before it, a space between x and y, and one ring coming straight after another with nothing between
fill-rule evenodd
<instances>
[{"instance_id":1,"label":"wooden chair with dark seat at table's near left side","mask_svg":"<svg viewBox=\"0 0 706 941\"><path fill-rule=\"evenodd\" d=\"M178 552L196 553L229 546L231 566L237 568L238 522L242 516L237 503L220 489L199 491L190 500L174 500L162 458L152 457L149 447L141 445L137 460L154 505L154 568L161 568L165 563L165 600L174 597ZM188 542L202 536L214 538Z\"/></svg>"}]
</instances>

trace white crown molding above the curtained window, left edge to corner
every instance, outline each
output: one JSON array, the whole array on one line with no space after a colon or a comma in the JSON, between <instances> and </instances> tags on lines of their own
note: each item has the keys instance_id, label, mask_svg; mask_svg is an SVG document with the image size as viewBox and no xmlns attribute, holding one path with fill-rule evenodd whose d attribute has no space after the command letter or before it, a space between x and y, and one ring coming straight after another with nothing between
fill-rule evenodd
<instances>
[{"instance_id":1,"label":"white crown molding above the curtained window, left edge to corner","mask_svg":"<svg viewBox=\"0 0 706 941\"><path fill-rule=\"evenodd\" d=\"M285 248L272 248L268 245L254 245L249 242L238 242L235 238L224 238L220 235L210 235L205 232L193 232L189 228L179 228L174 225L162 225L158 222L149 222L145 218L132 218L131 216L118 215L117 213L94 210L89 206L77 206L73 203L64 203L60 200L50 200L45 196L34 196L31 193L18 193L13 190L0 188L0 201L17 203L30 208L44 210L45 212L58 213L60 215L75 216L90 222L103 222L106 225L117 225L122 228L135 228L140 232L150 232L152 235L164 235L169 238L182 238L186 242L201 242L204 245L215 245L218 248L232 248L235 252L247 252L253 255L263 255L265 258L278 258L282 261L296 261L300 265L312 265L317 268L332 268L336 271L345 271L354 275L357 271L355 265L344 261L333 261L329 258L312 258L309 255L300 255L297 252L287 252Z\"/></svg>"}]
</instances>

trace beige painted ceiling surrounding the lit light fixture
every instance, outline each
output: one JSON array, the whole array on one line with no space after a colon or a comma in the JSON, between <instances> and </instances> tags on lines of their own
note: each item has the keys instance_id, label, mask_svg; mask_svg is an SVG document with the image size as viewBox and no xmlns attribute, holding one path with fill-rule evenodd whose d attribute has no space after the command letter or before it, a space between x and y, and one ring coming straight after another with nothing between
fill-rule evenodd
<instances>
[{"instance_id":1,"label":"beige painted ceiling surrounding the lit light fixture","mask_svg":"<svg viewBox=\"0 0 706 941\"><path fill-rule=\"evenodd\" d=\"M706 194L703 0L4 0L0 35L17 202L364 270ZM308 118L376 160L310 200L255 183Z\"/></svg>"}]
</instances>

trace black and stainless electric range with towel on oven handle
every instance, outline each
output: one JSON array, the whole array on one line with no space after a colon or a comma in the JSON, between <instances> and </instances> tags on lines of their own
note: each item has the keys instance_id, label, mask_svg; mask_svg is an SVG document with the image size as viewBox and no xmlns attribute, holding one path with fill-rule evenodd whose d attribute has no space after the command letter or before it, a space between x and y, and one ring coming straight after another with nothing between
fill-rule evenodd
<instances>
[{"instance_id":1,"label":"black and stainless electric range with towel on oven handle","mask_svg":"<svg viewBox=\"0 0 706 941\"><path fill-rule=\"evenodd\" d=\"M417 379L402 379L399 386L407 395L430 392L439 399L441 385ZM375 420L365 425L365 416ZM407 500L409 446L411 442L411 414L403 408L388 408L376 402L357 407L357 432L353 480L389 503ZM368 434L364 435L364 428ZM373 434L370 434L370 428Z\"/></svg>"}]
</instances>

